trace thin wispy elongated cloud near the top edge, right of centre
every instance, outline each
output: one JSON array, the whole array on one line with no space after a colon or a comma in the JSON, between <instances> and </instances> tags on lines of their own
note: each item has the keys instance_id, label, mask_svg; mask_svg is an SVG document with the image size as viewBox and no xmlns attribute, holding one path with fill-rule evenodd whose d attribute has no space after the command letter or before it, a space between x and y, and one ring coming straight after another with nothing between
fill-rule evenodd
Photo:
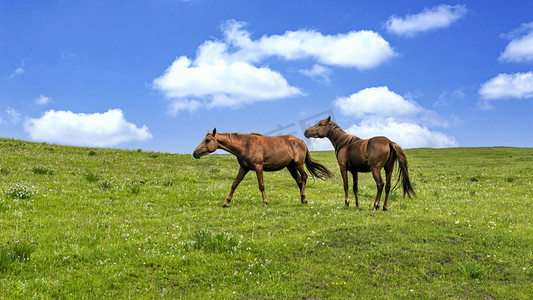
<instances>
[{"instance_id":1,"label":"thin wispy elongated cloud near the top edge, right of centre","mask_svg":"<svg viewBox=\"0 0 533 300\"><path fill-rule=\"evenodd\" d=\"M404 18L392 16L387 21L387 30L398 35L413 36L419 32L448 27L466 13L465 5L443 4Z\"/></svg>"}]
</instances>

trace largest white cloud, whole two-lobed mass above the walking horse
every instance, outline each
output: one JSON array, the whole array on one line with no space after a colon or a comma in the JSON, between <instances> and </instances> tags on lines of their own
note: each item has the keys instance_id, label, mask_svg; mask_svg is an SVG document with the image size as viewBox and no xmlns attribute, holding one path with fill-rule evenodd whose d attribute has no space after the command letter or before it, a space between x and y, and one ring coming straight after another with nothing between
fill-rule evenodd
<instances>
[{"instance_id":1,"label":"largest white cloud, whole two-lobed mass above the walking horse","mask_svg":"<svg viewBox=\"0 0 533 300\"><path fill-rule=\"evenodd\" d=\"M222 41L204 42L194 60L180 56L162 76L154 79L153 87L172 99L171 112L235 107L304 95L279 72L257 66L270 57L313 59L324 65L369 69L396 55L389 43L373 31L323 35L303 29L253 40L244 26L245 23L234 20L226 22L221 27ZM306 75L329 79L324 77L329 76L326 68L322 68L312 69L309 72L314 73Z\"/></svg>"}]
</instances>

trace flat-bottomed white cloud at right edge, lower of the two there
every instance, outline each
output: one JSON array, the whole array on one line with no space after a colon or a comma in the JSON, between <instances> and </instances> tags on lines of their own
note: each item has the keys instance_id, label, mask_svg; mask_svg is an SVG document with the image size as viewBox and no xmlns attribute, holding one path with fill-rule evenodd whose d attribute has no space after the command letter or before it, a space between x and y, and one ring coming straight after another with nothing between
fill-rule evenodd
<instances>
[{"instance_id":1,"label":"flat-bottomed white cloud at right edge, lower of the two there","mask_svg":"<svg viewBox=\"0 0 533 300\"><path fill-rule=\"evenodd\" d=\"M533 98L533 72L498 74L481 85L479 94L483 98L481 108L491 108L489 100L508 98Z\"/></svg>"}]
</instances>

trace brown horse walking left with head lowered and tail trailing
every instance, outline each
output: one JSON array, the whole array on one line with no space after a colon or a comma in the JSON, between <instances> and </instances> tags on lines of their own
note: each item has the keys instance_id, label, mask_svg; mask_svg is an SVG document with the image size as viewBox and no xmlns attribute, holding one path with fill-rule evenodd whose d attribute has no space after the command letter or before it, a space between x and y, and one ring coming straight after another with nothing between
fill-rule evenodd
<instances>
[{"instance_id":1,"label":"brown horse walking left with head lowered and tail trailing","mask_svg":"<svg viewBox=\"0 0 533 300\"><path fill-rule=\"evenodd\" d=\"M305 199L307 174L304 163L315 177L324 179L333 176L324 165L311 160L305 143L292 135L264 136L259 133L217 133L215 128L213 132L207 132L204 140L194 150L193 156L200 158L217 149L226 150L237 156L240 165L237 178L233 181L226 202L222 207L229 206L233 192L250 170L257 173L259 190L263 196L263 206L268 203L265 195L265 184L263 183L263 171L278 171L287 168L300 188L303 204L307 204Z\"/></svg>"}]
</instances>

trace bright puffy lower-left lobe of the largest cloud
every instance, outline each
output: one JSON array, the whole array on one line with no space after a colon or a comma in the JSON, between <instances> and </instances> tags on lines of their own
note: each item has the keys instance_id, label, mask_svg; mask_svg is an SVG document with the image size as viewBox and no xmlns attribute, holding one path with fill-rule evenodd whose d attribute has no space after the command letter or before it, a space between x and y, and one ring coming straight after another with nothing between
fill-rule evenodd
<instances>
[{"instance_id":1,"label":"bright puffy lower-left lobe of the largest cloud","mask_svg":"<svg viewBox=\"0 0 533 300\"><path fill-rule=\"evenodd\" d=\"M176 59L163 76L154 80L154 86L167 97L176 99L171 104L176 112L195 110L202 104L207 107L238 106L303 94L298 88L290 86L279 73L268 68L224 60L192 65L185 56ZM209 101L202 103L188 98L208 98Z\"/></svg>"}]
</instances>

